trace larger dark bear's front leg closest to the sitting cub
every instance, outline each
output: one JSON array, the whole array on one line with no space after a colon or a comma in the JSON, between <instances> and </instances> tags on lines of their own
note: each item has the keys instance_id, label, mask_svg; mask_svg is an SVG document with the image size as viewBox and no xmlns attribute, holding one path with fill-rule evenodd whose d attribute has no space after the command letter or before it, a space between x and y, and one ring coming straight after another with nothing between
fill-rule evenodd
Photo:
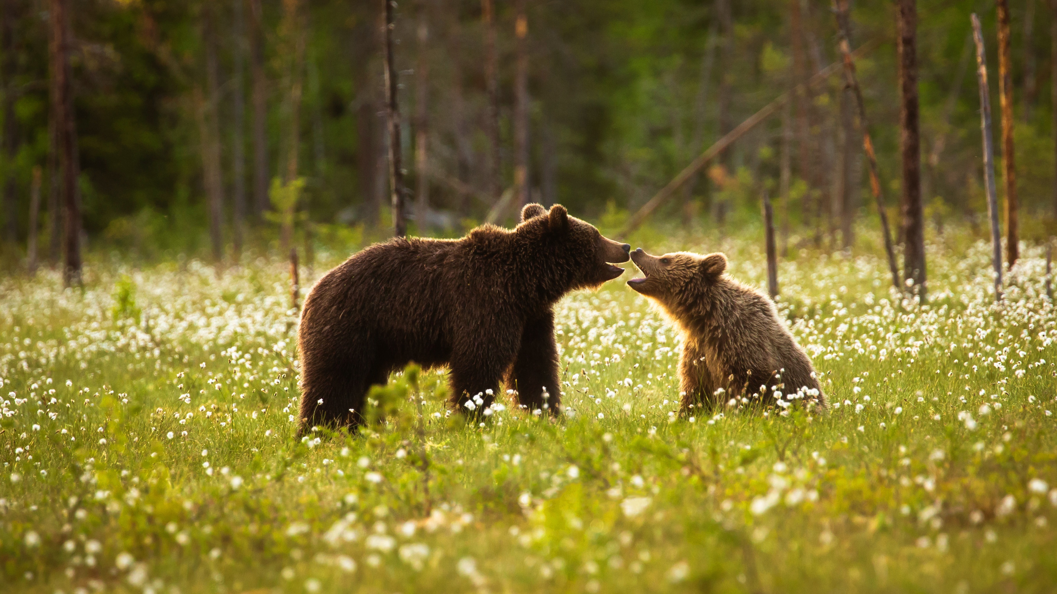
<instances>
[{"instance_id":1,"label":"larger dark bear's front leg closest to the sitting cub","mask_svg":"<svg viewBox=\"0 0 1057 594\"><path fill-rule=\"evenodd\" d=\"M558 413L561 386L558 383L558 349L554 344L552 311L530 319L525 324L517 359L506 375L506 386L516 390L518 404L528 410L542 408Z\"/></svg>"}]
</instances>

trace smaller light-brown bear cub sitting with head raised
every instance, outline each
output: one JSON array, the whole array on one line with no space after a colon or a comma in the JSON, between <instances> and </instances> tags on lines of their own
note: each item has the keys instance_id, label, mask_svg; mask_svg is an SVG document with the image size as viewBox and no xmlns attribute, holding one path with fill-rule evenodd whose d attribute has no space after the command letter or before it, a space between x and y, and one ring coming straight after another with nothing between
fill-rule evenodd
<instances>
[{"instance_id":1,"label":"smaller light-brown bear cub sitting with head raised","mask_svg":"<svg viewBox=\"0 0 1057 594\"><path fill-rule=\"evenodd\" d=\"M643 276L628 286L656 302L683 334L684 414L693 405L711 410L728 399L782 407L803 399L827 406L811 360L778 319L775 304L725 274L726 255L654 256L638 248L631 260Z\"/></svg>"}]
</instances>

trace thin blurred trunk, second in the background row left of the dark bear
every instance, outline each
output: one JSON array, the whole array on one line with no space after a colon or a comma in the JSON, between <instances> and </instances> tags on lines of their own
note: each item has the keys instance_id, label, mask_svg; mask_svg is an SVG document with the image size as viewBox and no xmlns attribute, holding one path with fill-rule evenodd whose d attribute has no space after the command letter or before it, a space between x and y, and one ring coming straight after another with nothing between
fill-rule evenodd
<instances>
[{"instance_id":1,"label":"thin blurred trunk, second in the background row left of the dark bear","mask_svg":"<svg viewBox=\"0 0 1057 594\"><path fill-rule=\"evenodd\" d=\"M243 61L246 47L246 24L243 15L244 0L231 0L234 26L231 31L231 202L234 207L233 243L235 260L242 254L246 232L246 96L243 84Z\"/></svg>"}]
</instances>

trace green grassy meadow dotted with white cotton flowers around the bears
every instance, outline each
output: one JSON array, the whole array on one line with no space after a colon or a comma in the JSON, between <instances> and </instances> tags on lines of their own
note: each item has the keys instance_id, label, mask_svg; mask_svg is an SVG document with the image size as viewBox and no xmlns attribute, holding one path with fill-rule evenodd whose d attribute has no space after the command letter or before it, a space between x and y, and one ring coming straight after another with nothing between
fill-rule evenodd
<instances>
[{"instance_id":1,"label":"green grassy meadow dotted with white cotton flowers around the bears","mask_svg":"<svg viewBox=\"0 0 1057 594\"><path fill-rule=\"evenodd\" d=\"M647 245L765 277L756 242L679 242ZM927 305L872 256L782 263L830 414L679 418L679 338L622 280L557 307L560 421L446 417L412 370L305 442L282 263L0 281L0 590L1050 591L1041 250L1000 306L985 245L928 253Z\"/></svg>"}]
</instances>

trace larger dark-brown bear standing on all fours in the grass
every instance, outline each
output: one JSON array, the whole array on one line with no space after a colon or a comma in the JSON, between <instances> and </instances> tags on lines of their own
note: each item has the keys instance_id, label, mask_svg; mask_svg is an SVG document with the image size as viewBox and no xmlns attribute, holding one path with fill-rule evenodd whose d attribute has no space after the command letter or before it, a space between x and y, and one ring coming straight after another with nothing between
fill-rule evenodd
<instances>
[{"instance_id":1,"label":"larger dark-brown bear standing on all fours in the grass","mask_svg":"<svg viewBox=\"0 0 1057 594\"><path fill-rule=\"evenodd\" d=\"M460 239L395 237L361 250L304 300L300 432L355 427L370 386L412 361L448 366L452 407L490 406L505 380L517 404L556 411L553 306L623 274L613 263L630 251L564 207L537 204L514 230L483 225Z\"/></svg>"}]
</instances>

